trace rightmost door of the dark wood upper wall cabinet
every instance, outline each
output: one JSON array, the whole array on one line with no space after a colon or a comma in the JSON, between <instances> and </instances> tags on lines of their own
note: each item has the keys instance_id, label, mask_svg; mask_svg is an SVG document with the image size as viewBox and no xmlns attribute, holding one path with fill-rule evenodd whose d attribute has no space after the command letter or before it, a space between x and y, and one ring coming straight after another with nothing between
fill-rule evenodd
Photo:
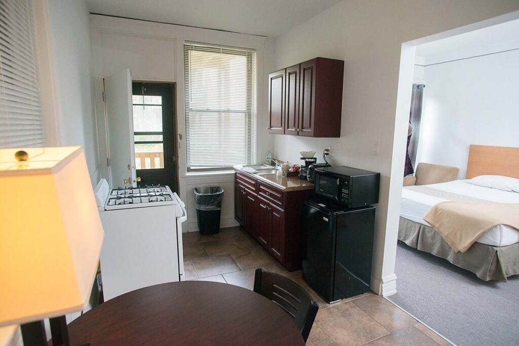
<instances>
[{"instance_id":1,"label":"rightmost door of the dark wood upper wall cabinet","mask_svg":"<svg viewBox=\"0 0 519 346\"><path fill-rule=\"evenodd\" d=\"M316 73L316 59L301 64L299 136L313 136L316 111Z\"/></svg>"}]
</instances>

